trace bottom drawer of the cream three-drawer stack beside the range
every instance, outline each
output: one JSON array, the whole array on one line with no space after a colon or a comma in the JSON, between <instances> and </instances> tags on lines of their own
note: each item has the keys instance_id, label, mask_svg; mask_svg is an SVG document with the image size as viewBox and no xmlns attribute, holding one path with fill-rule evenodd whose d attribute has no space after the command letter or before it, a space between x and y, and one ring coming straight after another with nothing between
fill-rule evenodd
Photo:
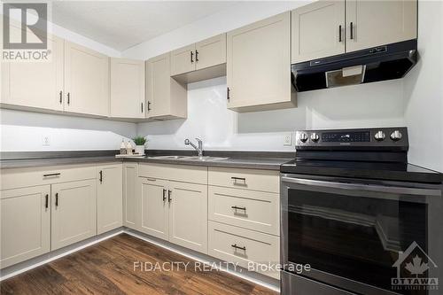
<instances>
[{"instance_id":1,"label":"bottom drawer of the cream three-drawer stack beside the range","mask_svg":"<svg viewBox=\"0 0 443 295\"><path fill-rule=\"evenodd\" d=\"M276 279L280 276L278 271L266 268L270 265L275 269L279 263L279 237L209 221L208 244L208 254L215 258Z\"/></svg>"}]
</instances>

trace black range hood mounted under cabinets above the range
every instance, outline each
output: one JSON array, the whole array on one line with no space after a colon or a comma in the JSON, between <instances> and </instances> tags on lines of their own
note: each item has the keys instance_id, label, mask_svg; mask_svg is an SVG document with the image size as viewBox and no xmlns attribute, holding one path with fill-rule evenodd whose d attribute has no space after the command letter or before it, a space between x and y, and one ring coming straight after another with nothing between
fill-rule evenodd
<instances>
[{"instance_id":1,"label":"black range hood mounted under cabinets above the range","mask_svg":"<svg viewBox=\"0 0 443 295\"><path fill-rule=\"evenodd\" d=\"M291 66L298 92L399 79L416 65L416 39Z\"/></svg>"}]
</instances>

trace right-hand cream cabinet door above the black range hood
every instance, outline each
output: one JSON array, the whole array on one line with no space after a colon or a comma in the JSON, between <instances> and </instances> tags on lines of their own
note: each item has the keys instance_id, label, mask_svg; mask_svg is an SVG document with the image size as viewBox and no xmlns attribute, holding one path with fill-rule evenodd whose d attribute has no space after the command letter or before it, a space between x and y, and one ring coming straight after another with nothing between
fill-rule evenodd
<instances>
[{"instance_id":1,"label":"right-hand cream cabinet door above the black range hood","mask_svg":"<svg viewBox=\"0 0 443 295\"><path fill-rule=\"evenodd\" d=\"M346 0L346 51L417 37L415 0Z\"/></svg>"}]
</instances>

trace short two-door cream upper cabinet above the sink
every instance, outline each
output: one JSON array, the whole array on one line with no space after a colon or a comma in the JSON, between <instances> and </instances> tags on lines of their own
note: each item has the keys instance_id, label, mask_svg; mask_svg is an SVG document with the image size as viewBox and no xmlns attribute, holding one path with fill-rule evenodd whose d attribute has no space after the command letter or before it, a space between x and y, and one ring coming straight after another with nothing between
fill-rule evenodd
<instances>
[{"instance_id":1,"label":"short two-door cream upper cabinet above the sink","mask_svg":"<svg viewBox=\"0 0 443 295\"><path fill-rule=\"evenodd\" d=\"M171 51L171 76L189 83L226 75L226 34Z\"/></svg>"}]
</instances>

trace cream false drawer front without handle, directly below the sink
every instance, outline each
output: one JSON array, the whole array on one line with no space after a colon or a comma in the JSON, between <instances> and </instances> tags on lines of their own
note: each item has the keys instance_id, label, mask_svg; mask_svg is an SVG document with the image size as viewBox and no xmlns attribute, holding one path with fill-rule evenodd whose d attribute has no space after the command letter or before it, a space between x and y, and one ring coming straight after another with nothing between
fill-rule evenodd
<instances>
[{"instance_id":1,"label":"cream false drawer front without handle, directly below the sink","mask_svg":"<svg viewBox=\"0 0 443 295\"><path fill-rule=\"evenodd\" d=\"M207 184L207 168L189 165L140 164L140 177Z\"/></svg>"}]
</instances>

